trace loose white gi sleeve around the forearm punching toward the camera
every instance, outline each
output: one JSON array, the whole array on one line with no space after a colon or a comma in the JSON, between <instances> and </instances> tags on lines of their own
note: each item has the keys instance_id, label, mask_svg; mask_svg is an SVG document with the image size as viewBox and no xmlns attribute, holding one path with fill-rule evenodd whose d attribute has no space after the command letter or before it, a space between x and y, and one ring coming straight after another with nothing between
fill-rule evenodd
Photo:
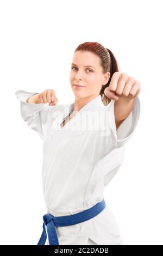
<instances>
[{"instance_id":1,"label":"loose white gi sleeve around the forearm punching toward the camera","mask_svg":"<svg viewBox=\"0 0 163 256\"><path fill-rule=\"evenodd\" d=\"M109 103L110 107L110 127L114 133L114 139L116 148L120 148L125 145L129 139L134 135L137 123L140 119L140 99L138 96L135 97L134 106L131 113L126 119L123 120L121 125L116 129L115 115L114 115L114 104L115 100L111 100Z\"/></svg>"}]
</instances>

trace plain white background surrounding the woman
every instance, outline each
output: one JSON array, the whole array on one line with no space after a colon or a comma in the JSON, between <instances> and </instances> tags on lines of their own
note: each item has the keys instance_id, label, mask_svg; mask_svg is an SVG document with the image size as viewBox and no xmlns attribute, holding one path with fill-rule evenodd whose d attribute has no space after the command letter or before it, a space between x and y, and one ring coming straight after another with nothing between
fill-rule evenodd
<instances>
[{"instance_id":1,"label":"plain white background surrounding the woman","mask_svg":"<svg viewBox=\"0 0 163 256\"><path fill-rule=\"evenodd\" d=\"M141 116L105 190L124 245L163 245L162 1L1 1L1 245L36 245L46 207L42 140L23 122L18 89L72 103L75 48L95 41L141 82Z\"/></svg>"}]
</instances>

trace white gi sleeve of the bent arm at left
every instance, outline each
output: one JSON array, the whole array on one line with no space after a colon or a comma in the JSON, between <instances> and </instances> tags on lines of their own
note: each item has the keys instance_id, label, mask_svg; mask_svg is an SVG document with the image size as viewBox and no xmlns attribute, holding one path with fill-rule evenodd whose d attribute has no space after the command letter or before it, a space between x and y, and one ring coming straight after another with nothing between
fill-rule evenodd
<instances>
[{"instance_id":1,"label":"white gi sleeve of the bent arm at left","mask_svg":"<svg viewBox=\"0 0 163 256\"><path fill-rule=\"evenodd\" d=\"M26 100L37 93L17 90L15 95L20 101L21 116L26 124L44 139L46 135L46 123L49 113L57 106L48 106L49 103L28 103Z\"/></svg>"}]
</instances>

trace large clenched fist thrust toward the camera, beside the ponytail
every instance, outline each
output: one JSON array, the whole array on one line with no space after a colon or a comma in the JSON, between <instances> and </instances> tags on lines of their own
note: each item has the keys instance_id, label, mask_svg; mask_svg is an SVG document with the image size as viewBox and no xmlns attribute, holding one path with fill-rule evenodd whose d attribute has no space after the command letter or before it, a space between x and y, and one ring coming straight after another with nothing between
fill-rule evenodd
<instances>
[{"instance_id":1,"label":"large clenched fist thrust toward the camera, beside the ponytail","mask_svg":"<svg viewBox=\"0 0 163 256\"><path fill-rule=\"evenodd\" d=\"M112 100L118 100L120 97L133 99L140 93L140 82L126 73L115 72L104 94Z\"/></svg>"}]
</instances>

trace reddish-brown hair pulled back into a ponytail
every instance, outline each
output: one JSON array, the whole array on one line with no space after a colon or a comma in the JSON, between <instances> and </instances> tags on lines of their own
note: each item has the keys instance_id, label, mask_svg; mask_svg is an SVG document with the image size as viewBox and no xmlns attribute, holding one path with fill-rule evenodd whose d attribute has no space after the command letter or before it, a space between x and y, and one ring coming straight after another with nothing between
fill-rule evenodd
<instances>
[{"instance_id":1,"label":"reddish-brown hair pulled back into a ponytail","mask_svg":"<svg viewBox=\"0 0 163 256\"><path fill-rule=\"evenodd\" d=\"M95 53L100 59L101 59L101 65L103 68L103 74L106 72L110 72L110 77L108 83L102 86L100 95L102 97L102 101L104 105L108 105L110 100L108 97L105 96L104 90L106 87L109 87L111 77L114 74L114 72L119 71L118 69L118 63L116 58L114 57L114 54L108 49L105 48L103 45L99 44L98 42L83 42L83 44L80 44L76 50L74 51L89 51L92 53Z\"/></svg>"}]
</instances>

